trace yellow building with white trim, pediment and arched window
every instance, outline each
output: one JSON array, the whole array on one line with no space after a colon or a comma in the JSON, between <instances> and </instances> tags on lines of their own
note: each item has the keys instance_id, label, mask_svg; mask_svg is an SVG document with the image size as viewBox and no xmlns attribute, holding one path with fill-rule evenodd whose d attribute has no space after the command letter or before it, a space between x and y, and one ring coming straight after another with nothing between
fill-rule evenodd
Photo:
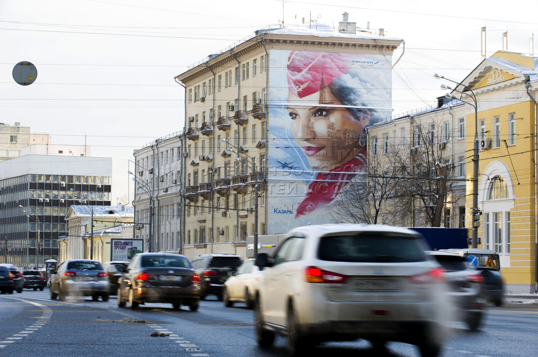
<instances>
[{"instance_id":1,"label":"yellow building with white trim, pediment and arched window","mask_svg":"<svg viewBox=\"0 0 538 357\"><path fill-rule=\"evenodd\" d=\"M536 289L537 77L538 58L499 51L462 81L478 102L478 207L483 212L479 247L499 253L506 290L513 293ZM472 103L468 96L462 99ZM475 109L466 105L465 112L466 172L471 178ZM471 181L466 192L466 225L471 227Z\"/></svg>"}]
</instances>

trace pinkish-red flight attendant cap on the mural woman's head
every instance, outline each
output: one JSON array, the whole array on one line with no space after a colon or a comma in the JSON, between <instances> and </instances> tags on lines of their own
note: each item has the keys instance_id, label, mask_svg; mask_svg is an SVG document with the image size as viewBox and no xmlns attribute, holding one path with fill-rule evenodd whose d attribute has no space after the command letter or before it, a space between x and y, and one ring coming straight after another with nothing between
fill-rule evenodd
<instances>
[{"instance_id":1,"label":"pinkish-red flight attendant cap on the mural woman's head","mask_svg":"<svg viewBox=\"0 0 538 357\"><path fill-rule=\"evenodd\" d=\"M299 98L319 92L351 68L353 54L292 51L288 57L289 91Z\"/></svg>"}]
</instances>

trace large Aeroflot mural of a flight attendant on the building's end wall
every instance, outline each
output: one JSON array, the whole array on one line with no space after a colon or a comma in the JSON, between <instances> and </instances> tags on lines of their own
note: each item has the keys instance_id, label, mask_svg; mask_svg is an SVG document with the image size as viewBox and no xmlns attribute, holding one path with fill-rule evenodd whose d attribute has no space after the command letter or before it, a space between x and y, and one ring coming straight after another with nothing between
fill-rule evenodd
<instances>
[{"instance_id":1,"label":"large Aeroflot mural of a flight attendant on the building's end wall","mask_svg":"<svg viewBox=\"0 0 538 357\"><path fill-rule=\"evenodd\" d=\"M268 230L330 223L364 180L364 129L390 116L391 56L271 50Z\"/></svg>"}]
</instances>

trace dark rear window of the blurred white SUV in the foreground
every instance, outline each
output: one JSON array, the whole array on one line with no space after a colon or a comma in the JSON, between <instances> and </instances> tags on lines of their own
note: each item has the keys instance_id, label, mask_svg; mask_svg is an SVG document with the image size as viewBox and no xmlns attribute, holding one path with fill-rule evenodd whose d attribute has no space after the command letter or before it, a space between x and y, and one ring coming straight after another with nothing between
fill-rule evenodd
<instances>
[{"instance_id":1,"label":"dark rear window of the blurred white SUV in the foreground","mask_svg":"<svg viewBox=\"0 0 538 357\"><path fill-rule=\"evenodd\" d=\"M353 263L407 263L426 255L413 236L360 234L322 237L318 258Z\"/></svg>"}]
</instances>

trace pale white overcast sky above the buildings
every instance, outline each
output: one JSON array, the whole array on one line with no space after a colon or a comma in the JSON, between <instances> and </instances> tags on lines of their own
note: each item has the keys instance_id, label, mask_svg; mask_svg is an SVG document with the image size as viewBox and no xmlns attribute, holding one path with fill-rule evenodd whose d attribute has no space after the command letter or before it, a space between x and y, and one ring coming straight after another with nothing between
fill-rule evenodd
<instances>
[{"instance_id":1,"label":"pale white overcast sky above the buildings","mask_svg":"<svg viewBox=\"0 0 538 357\"><path fill-rule=\"evenodd\" d=\"M325 5L331 3L330 5ZM183 128L183 89L173 77L254 30L302 18L384 28L406 41L393 72L393 114L435 104L433 74L463 79L482 60L480 28L490 56L529 54L536 1L322 2L174 0L0 0L0 122L51 134L53 144L84 144L113 158L112 204L128 193L133 149ZM538 51L538 47L535 46ZM393 61L402 53L394 53ZM38 69L29 86L13 82L13 65ZM447 83L449 84L449 83Z\"/></svg>"}]
</instances>

